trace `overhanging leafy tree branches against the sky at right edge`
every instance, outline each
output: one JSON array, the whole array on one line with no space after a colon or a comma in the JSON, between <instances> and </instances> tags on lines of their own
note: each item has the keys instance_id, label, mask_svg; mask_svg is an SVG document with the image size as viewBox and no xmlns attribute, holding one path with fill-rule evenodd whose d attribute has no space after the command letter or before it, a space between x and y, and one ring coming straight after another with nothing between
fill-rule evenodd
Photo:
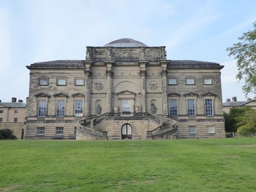
<instances>
[{"instance_id":1,"label":"overhanging leafy tree branches against the sky at right edge","mask_svg":"<svg viewBox=\"0 0 256 192\"><path fill-rule=\"evenodd\" d=\"M239 81L245 80L242 90L246 96L250 92L256 94L256 22L253 23L253 27L253 30L245 32L238 38L238 43L226 49L229 52L228 56L237 59L236 78Z\"/></svg>"}]
</instances>

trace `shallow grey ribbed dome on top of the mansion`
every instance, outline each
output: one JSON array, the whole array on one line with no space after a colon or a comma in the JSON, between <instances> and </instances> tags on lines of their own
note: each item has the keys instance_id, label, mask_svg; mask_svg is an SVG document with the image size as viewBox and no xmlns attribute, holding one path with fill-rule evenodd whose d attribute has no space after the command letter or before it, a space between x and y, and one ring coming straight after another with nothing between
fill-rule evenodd
<instances>
[{"instance_id":1,"label":"shallow grey ribbed dome on top of the mansion","mask_svg":"<svg viewBox=\"0 0 256 192\"><path fill-rule=\"evenodd\" d=\"M104 45L103 47L148 47L144 43L132 38L121 38Z\"/></svg>"}]
</instances>

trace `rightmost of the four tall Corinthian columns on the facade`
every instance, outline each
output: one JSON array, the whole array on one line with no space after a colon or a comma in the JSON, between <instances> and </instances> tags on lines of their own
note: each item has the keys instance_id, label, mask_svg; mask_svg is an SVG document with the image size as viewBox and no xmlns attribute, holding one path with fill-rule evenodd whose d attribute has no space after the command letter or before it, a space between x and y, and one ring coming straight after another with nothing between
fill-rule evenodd
<instances>
[{"instance_id":1,"label":"rightmost of the four tall Corinthian columns on the facade","mask_svg":"<svg viewBox=\"0 0 256 192\"><path fill-rule=\"evenodd\" d=\"M163 103L163 116L168 116L168 101L167 101L167 64L168 62L161 63L161 75L162 75L162 103Z\"/></svg>"}]
</instances>

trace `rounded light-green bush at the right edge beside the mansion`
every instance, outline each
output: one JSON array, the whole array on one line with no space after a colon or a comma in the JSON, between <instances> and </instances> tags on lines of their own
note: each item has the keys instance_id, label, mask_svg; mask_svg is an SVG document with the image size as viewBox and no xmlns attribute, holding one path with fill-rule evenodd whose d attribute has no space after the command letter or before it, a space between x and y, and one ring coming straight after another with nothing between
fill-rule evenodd
<instances>
[{"instance_id":1,"label":"rounded light-green bush at the right edge beside the mansion","mask_svg":"<svg viewBox=\"0 0 256 192\"><path fill-rule=\"evenodd\" d=\"M256 133L256 111L254 109L247 109L244 114L235 118L237 120L237 132L242 135Z\"/></svg>"}]
</instances>

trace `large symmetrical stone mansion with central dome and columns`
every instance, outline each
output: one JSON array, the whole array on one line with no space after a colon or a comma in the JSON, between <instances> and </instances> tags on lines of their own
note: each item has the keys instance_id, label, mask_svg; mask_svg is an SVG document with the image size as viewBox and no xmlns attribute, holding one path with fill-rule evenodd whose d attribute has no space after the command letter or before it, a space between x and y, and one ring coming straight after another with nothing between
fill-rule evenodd
<instances>
[{"instance_id":1,"label":"large symmetrical stone mansion with central dome and columns","mask_svg":"<svg viewBox=\"0 0 256 192\"><path fill-rule=\"evenodd\" d=\"M165 47L125 38L27 68L27 139L225 137L218 63L168 60Z\"/></svg>"}]
</instances>

